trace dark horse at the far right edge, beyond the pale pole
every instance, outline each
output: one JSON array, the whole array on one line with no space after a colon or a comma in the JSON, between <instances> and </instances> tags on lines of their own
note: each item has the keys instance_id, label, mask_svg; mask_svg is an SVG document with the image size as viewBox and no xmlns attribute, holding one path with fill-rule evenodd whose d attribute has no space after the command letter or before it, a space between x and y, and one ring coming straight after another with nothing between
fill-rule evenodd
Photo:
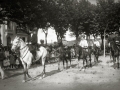
<instances>
[{"instance_id":1,"label":"dark horse at the far right edge, beyond the pale pole","mask_svg":"<svg viewBox=\"0 0 120 90\"><path fill-rule=\"evenodd\" d=\"M109 41L110 44L110 53L113 58L114 68L115 62L117 60L117 68L119 68L119 46L116 44L116 39Z\"/></svg>"}]
</instances>

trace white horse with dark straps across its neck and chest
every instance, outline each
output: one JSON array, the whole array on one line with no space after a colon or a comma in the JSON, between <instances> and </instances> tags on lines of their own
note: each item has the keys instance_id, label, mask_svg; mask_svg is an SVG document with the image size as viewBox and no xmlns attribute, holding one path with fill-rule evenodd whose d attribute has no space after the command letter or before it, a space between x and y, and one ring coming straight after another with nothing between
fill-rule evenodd
<instances>
[{"instance_id":1,"label":"white horse with dark straps across its neck and chest","mask_svg":"<svg viewBox=\"0 0 120 90\"><path fill-rule=\"evenodd\" d=\"M26 75L31 78L31 76L28 73L28 70L32 64L33 55L29 50L29 47L26 45L26 43L18 36L16 36L13 40L12 51L19 50L20 52L20 60L22 61L22 65L24 67L24 79L23 82L26 82ZM36 60L39 60L41 58L42 60L42 66L43 66L43 72L42 76L40 78L45 77L45 60L47 56L47 50L44 47L40 47L39 51L36 51Z\"/></svg>"}]
</instances>

